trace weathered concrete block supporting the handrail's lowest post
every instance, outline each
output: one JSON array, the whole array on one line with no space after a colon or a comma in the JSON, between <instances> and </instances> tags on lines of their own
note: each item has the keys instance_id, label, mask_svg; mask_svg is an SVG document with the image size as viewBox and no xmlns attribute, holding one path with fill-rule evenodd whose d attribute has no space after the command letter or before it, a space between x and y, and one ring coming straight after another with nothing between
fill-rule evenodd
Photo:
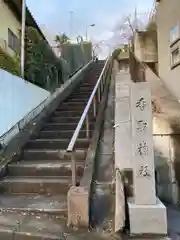
<instances>
[{"instance_id":1,"label":"weathered concrete block supporting the handrail's lowest post","mask_svg":"<svg viewBox=\"0 0 180 240\"><path fill-rule=\"evenodd\" d=\"M68 191L68 226L89 227L89 191L84 187L71 187Z\"/></svg>"}]
</instances>

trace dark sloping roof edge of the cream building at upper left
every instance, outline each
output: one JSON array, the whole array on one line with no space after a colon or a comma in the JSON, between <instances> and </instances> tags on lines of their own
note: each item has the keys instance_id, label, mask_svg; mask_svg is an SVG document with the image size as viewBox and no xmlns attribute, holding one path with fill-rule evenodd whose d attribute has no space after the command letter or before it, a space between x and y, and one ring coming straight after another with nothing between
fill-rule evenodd
<instances>
[{"instance_id":1,"label":"dark sloping roof edge of the cream building at upper left","mask_svg":"<svg viewBox=\"0 0 180 240\"><path fill-rule=\"evenodd\" d=\"M17 19L21 22L21 16L22 16L22 0L4 0L4 2L8 5L8 7L11 9L11 11L14 12ZM35 19L33 18L31 12L29 11L28 7L26 7L26 24L29 27L34 27L38 30L41 37L46 40L46 37L44 36L43 32L41 31L40 27L36 23ZM47 41L47 40L46 40Z\"/></svg>"}]
</instances>

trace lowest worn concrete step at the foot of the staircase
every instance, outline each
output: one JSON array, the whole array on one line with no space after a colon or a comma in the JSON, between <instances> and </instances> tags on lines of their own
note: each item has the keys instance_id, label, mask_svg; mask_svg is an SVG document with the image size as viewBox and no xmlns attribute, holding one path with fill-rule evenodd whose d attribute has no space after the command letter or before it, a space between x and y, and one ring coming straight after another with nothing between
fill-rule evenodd
<instances>
[{"instance_id":1,"label":"lowest worn concrete step at the foot of the staircase","mask_svg":"<svg viewBox=\"0 0 180 240\"><path fill-rule=\"evenodd\" d=\"M66 218L47 214L3 212L0 214L0 239L2 240L64 240Z\"/></svg>"}]
</instances>

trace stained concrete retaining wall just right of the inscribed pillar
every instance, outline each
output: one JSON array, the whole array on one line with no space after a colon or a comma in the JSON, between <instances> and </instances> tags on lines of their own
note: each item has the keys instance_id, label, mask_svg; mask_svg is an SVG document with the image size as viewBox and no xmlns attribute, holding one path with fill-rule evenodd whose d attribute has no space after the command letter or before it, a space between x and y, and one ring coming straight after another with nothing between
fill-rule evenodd
<instances>
[{"instance_id":1,"label":"stained concrete retaining wall just right of the inscribed pillar","mask_svg":"<svg viewBox=\"0 0 180 240\"><path fill-rule=\"evenodd\" d=\"M157 195L165 202L177 204L180 135L173 134L168 122L161 117L154 117L153 132Z\"/></svg>"}]
</instances>

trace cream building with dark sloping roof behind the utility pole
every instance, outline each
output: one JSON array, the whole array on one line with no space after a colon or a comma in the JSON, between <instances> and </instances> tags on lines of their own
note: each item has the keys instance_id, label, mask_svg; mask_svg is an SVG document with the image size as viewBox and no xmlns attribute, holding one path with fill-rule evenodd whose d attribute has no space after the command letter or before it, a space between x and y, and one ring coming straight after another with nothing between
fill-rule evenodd
<instances>
[{"instance_id":1,"label":"cream building with dark sloping roof behind the utility pole","mask_svg":"<svg viewBox=\"0 0 180 240\"><path fill-rule=\"evenodd\" d=\"M0 0L0 14L0 47L13 57L20 53L22 0ZM34 27L45 39L28 8L26 26Z\"/></svg>"}]
</instances>

